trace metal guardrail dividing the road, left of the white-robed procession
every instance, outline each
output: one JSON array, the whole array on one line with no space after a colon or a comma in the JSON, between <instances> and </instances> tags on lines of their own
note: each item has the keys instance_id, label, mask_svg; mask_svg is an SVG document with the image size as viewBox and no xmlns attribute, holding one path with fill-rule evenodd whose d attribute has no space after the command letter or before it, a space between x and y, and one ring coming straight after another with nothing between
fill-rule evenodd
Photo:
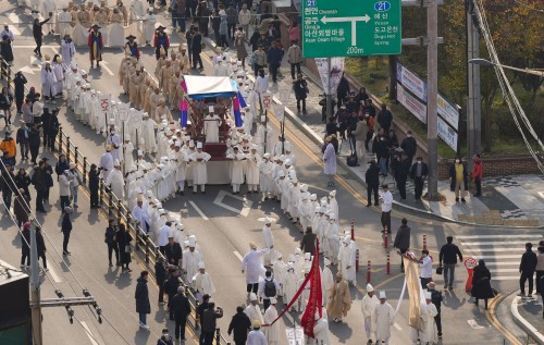
<instances>
[{"instance_id":1,"label":"metal guardrail dividing the road, left of the white-robed procession","mask_svg":"<svg viewBox=\"0 0 544 345\"><path fill-rule=\"evenodd\" d=\"M57 136L57 145L59 146L59 152L66 155L66 160L69 162L74 162L76 169L82 174L83 184L82 186L88 190L88 173L90 171L90 164L87 157L83 156L79 148L75 146L70 136L67 136L63 131L62 126L59 127L59 135ZM149 272L154 275L154 263L159 258L162 258L166 262L166 258L160 252L159 247L149 238L141 227L138 226L136 222L132 219L131 211L126 209L122 200L118 199L111 189L106 186L102 178L99 182L98 189L98 202L100 206L100 211L103 212L109 219L116 219L118 224L124 223L126 229L135 238L135 252L140 252L146 261ZM182 259L183 260L183 259ZM191 288L185 284L185 282L180 278L180 284L185 288L185 294L189 298L189 304L191 308L189 320L187 324L193 328L194 331L200 329L200 318L196 312L199 301L193 293ZM215 344L217 345L231 345L224 335L221 333L219 328L215 329Z\"/></svg>"}]
</instances>

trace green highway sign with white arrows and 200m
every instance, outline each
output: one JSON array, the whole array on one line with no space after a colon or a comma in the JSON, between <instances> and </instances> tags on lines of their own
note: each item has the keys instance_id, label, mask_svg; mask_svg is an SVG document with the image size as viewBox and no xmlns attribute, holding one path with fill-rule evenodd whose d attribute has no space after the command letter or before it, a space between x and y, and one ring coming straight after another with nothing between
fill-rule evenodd
<instances>
[{"instance_id":1,"label":"green highway sign with white arrows and 200m","mask_svg":"<svg viewBox=\"0 0 544 345\"><path fill-rule=\"evenodd\" d=\"M400 9L400 0L302 0L302 54L399 54Z\"/></svg>"}]
</instances>

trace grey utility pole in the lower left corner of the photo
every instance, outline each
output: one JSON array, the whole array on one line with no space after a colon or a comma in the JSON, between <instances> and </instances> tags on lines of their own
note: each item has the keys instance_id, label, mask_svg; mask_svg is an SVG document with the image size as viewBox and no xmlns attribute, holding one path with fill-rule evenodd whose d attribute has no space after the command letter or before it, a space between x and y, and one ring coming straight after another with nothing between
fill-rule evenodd
<instances>
[{"instance_id":1,"label":"grey utility pole in the lower left corner of the photo","mask_svg":"<svg viewBox=\"0 0 544 345\"><path fill-rule=\"evenodd\" d=\"M23 238L24 241L24 238ZM24 244L23 244L24 245ZM38 262L38 245L36 243L36 226L30 226L30 300L35 305L32 308L33 344L44 344L41 334L41 301L40 280Z\"/></svg>"}]
</instances>

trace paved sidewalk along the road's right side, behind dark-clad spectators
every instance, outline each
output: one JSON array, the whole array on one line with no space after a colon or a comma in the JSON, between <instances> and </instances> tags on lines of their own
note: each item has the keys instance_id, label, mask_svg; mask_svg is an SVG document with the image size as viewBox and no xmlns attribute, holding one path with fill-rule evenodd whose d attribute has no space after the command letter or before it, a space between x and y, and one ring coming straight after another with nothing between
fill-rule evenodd
<instances>
[{"instance_id":1,"label":"paved sidewalk along the road's right side, behind dark-clad spectators","mask_svg":"<svg viewBox=\"0 0 544 345\"><path fill-rule=\"evenodd\" d=\"M270 90L292 87L289 65L284 60L282 64L284 77L279 78L277 84L271 84ZM302 66L302 73L307 77L310 94L307 99L308 114L296 114L296 99L290 97L286 104L290 111L286 111L293 122L300 127L305 134L316 144L321 145L325 134L325 124L321 121L321 107L319 97L322 94L321 82L318 75ZM338 163L351 171L351 173L364 185L364 173L368 163L374 157L367 152L359 167L347 167L346 157L350 149L348 143L342 143ZM485 161L484 161L485 164ZM543 175L516 175L502 177L484 177L482 182L482 197L475 198L472 193L467 194L467 202L455 202L455 197L449 192L449 182L438 182L438 193L444 196L442 201L415 200L413 183L409 180L406 186L407 199L400 200L395 187L395 181L390 174L382 180L393 186L391 192L395 198L395 205L412 211L433 214L438 218L471 224L507 225L507 226L540 226L544 225L544 176ZM423 190L425 195L425 190Z\"/></svg>"}]
</instances>

